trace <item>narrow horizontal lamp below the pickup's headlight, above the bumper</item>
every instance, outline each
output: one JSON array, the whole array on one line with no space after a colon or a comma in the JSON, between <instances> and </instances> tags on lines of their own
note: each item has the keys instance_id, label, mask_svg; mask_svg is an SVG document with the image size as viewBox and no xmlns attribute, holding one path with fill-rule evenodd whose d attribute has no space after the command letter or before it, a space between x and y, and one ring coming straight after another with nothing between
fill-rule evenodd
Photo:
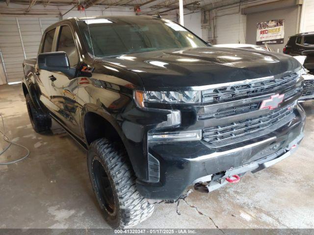
<instances>
[{"instance_id":1,"label":"narrow horizontal lamp below the pickup's headlight, above the bumper","mask_svg":"<svg viewBox=\"0 0 314 235\"><path fill-rule=\"evenodd\" d=\"M148 141L199 141L202 130L148 133Z\"/></svg>"}]
</instances>

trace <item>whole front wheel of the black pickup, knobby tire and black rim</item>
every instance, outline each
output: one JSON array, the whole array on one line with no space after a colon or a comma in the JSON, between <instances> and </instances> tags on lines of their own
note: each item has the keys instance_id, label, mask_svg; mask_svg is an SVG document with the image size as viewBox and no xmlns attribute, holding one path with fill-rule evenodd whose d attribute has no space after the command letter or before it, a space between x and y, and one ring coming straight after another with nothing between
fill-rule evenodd
<instances>
[{"instance_id":1,"label":"whole front wheel of the black pickup, knobby tire and black rim","mask_svg":"<svg viewBox=\"0 0 314 235\"><path fill-rule=\"evenodd\" d=\"M106 139L91 143L87 153L89 177L106 221L113 228L129 228L149 216L154 205L135 186L127 153Z\"/></svg>"}]
</instances>

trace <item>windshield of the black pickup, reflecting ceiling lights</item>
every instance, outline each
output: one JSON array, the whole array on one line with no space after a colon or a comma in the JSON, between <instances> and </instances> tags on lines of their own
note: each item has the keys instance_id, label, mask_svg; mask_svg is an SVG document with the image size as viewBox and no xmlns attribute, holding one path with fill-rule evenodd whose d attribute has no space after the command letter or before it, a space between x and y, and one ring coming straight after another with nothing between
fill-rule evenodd
<instances>
[{"instance_id":1,"label":"windshield of the black pickup, reflecting ceiling lights","mask_svg":"<svg viewBox=\"0 0 314 235\"><path fill-rule=\"evenodd\" d=\"M78 22L78 26L90 52L97 57L168 48L207 47L197 36L169 20L87 19Z\"/></svg>"}]
</instances>

